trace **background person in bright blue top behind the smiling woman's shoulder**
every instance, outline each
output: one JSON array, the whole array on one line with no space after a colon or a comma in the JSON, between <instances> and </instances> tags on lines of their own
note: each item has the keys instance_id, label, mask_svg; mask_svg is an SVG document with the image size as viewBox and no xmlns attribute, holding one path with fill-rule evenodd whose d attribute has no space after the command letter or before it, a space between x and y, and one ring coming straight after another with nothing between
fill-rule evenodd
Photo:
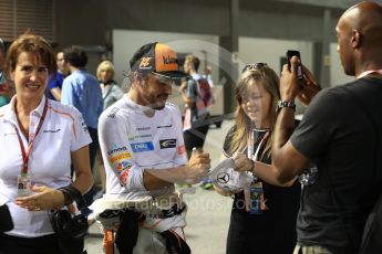
<instances>
[{"instance_id":1,"label":"background person in bright blue top behind the smiling woman's shoulder","mask_svg":"<svg viewBox=\"0 0 382 254\"><path fill-rule=\"evenodd\" d=\"M64 53L56 53L58 72L49 77L48 98L61 102L61 89L63 80L69 75L69 67L64 57Z\"/></svg>"}]
</instances>

